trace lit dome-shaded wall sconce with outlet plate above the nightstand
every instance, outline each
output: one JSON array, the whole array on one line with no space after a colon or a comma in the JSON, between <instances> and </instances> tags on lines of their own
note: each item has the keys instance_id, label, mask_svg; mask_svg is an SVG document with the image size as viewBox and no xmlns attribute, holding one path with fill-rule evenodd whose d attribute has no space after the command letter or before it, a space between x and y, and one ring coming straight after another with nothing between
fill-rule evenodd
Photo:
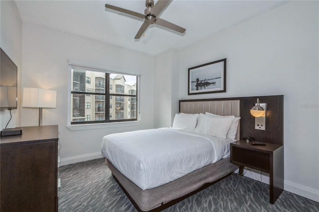
<instances>
[{"instance_id":1,"label":"lit dome-shaded wall sconce with outlet plate above the nightstand","mask_svg":"<svg viewBox=\"0 0 319 212\"><path fill-rule=\"evenodd\" d=\"M250 114L255 117L255 129L266 129L266 103L259 103L259 98L257 98L257 103L250 109Z\"/></svg>"}]
</instances>

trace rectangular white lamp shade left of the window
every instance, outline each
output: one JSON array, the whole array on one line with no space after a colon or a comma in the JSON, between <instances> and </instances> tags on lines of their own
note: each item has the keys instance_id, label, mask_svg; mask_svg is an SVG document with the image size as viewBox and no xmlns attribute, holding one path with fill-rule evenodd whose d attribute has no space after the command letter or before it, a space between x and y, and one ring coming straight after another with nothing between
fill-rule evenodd
<instances>
[{"instance_id":1,"label":"rectangular white lamp shade left of the window","mask_svg":"<svg viewBox=\"0 0 319 212\"><path fill-rule=\"evenodd\" d=\"M39 88L23 88L22 106L55 108L56 91Z\"/></svg>"}]
</instances>

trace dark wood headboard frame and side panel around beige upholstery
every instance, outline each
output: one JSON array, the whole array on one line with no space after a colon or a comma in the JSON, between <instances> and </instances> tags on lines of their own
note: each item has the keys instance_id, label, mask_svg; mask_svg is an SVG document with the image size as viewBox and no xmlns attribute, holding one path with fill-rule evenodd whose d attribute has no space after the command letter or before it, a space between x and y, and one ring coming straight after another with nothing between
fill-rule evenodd
<instances>
[{"instance_id":1,"label":"dark wood headboard frame and side panel around beige upholstery","mask_svg":"<svg viewBox=\"0 0 319 212\"><path fill-rule=\"evenodd\" d=\"M255 117L250 114L250 109L257 103L267 104L266 130L255 129ZM207 102L207 101L240 101L240 137L252 137L258 141L284 144L284 96L260 96L260 97L236 97L200 100L180 100L179 111L184 102ZM197 112L196 112L197 113Z\"/></svg>"}]
</instances>

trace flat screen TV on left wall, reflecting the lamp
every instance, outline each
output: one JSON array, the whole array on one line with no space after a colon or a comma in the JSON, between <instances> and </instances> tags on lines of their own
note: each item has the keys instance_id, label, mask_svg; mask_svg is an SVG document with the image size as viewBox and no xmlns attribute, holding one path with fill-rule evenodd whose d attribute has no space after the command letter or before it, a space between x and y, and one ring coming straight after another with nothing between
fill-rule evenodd
<instances>
[{"instance_id":1,"label":"flat screen TV on left wall, reflecting the lamp","mask_svg":"<svg viewBox=\"0 0 319 212\"><path fill-rule=\"evenodd\" d=\"M16 109L17 67L0 48L0 109Z\"/></svg>"}]
</instances>

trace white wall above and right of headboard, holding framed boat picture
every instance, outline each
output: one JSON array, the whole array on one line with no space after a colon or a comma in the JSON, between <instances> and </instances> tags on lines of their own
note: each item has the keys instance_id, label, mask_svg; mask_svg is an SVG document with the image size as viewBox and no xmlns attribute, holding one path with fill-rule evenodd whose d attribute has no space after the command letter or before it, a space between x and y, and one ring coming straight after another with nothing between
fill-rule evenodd
<instances>
[{"instance_id":1,"label":"white wall above and right of headboard, holding framed boat picture","mask_svg":"<svg viewBox=\"0 0 319 212\"><path fill-rule=\"evenodd\" d=\"M180 99L285 95L285 190L316 201L319 201L318 9L318 1L288 2L182 49L179 55ZM187 96L187 69L223 58L227 58L227 92ZM305 108L303 104L315 107Z\"/></svg>"}]
</instances>

